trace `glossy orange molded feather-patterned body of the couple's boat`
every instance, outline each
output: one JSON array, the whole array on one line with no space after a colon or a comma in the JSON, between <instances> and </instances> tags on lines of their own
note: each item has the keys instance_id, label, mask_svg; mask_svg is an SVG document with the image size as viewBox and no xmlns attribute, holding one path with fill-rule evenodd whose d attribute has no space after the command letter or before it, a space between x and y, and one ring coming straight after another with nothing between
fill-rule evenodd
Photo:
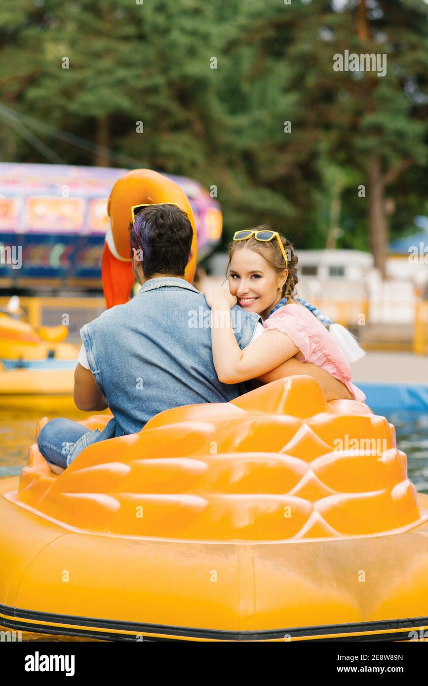
<instances>
[{"instance_id":1,"label":"glossy orange molded feather-patterned body of the couple's boat","mask_svg":"<svg viewBox=\"0 0 428 686\"><path fill-rule=\"evenodd\" d=\"M368 439L372 451L349 447ZM8 497L69 530L194 541L397 533L428 514L388 421L363 403L327 404L310 377L161 412L91 445L60 479L34 447Z\"/></svg>"}]
</instances>

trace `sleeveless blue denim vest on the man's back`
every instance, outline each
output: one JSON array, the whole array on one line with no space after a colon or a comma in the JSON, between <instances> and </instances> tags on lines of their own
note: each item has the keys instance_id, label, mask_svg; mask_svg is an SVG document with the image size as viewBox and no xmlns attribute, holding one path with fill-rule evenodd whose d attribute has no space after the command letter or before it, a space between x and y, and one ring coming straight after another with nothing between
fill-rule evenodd
<instances>
[{"instance_id":1,"label":"sleeveless blue denim vest on the man's back","mask_svg":"<svg viewBox=\"0 0 428 686\"><path fill-rule=\"evenodd\" d=\"M235 305L233 332L242 349L258 314ZM152 416L180 405L237 398L241 383L221 383L211 348L211 309L184 279L146 281L126 305L117 305L80 331L93 377L114 415L99 434L85 434L68 464L92 442L140 431Z\"/></svg>"}]
</instances>

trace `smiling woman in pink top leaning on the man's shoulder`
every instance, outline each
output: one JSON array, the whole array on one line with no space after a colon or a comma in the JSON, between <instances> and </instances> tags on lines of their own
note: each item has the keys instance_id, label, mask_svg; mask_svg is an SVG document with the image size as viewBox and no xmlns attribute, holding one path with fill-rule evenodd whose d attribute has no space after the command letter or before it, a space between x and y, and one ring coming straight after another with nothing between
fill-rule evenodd
<instances>
[{"instance_id":1,"label":"smiling woman in pink top leaning on the man's shoulder","mask_svg":"<svg viewBox=\"0 0 428 686\"><path fill-rule=\"evenodd\" d=\"M294 298L297 263L292 244L268 225L235 233L229 246L230 272L226 270L229 290L207 291L206 301L217 319L236 303L246 311L259 314L265 320L265 333L254 335L250 345L241 350L234 340L230 322L225 327L216 324L213 318L211 338L217 375L223 383L250 379L269 383L284 376L305 374L305 370L283 369L283 364L297 358L296 364L312 363L336 380L336 388L332 385L323 388L329 399L364 401L364 393L351 383L350 357L346 355L350 350L358 359L364 352L343 327L340 327L344 340L341 346L326 329L325 324L333 322L310 303ZM265 378L276 371L278 376Z\"/></svg>"}]
</instances>

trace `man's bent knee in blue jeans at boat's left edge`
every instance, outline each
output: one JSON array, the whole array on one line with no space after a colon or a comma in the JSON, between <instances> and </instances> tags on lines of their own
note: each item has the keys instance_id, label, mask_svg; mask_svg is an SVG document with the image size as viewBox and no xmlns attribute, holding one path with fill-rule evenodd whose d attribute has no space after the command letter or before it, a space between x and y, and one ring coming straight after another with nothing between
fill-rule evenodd
<instances>
[{"instance_id":1,"label":"man's bent knee in blue jeans at boat's left edge","mask_svg":"<svg viewBox=\"0 0 428 686\"><path fill-rule=\"evenodd\" d=\"M93 440L91 438L97 434L99 429L88 431L86 427L71 419L51 419L38 434L37 445L47 462L65 468L69 466L68 458L76 443L79 440L82 443L83 439L88 445Z\"/></svg>"}]
</instances>

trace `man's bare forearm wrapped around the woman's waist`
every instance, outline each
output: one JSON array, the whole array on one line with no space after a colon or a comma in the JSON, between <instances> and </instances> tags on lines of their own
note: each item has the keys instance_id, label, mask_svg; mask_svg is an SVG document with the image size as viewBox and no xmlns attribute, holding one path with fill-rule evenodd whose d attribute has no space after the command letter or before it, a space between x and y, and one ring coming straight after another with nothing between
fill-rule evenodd
<instances>
[{"instance_id":1,"label":"man's bare forearm wrapped around the woman's waist","mask_svg":"<svg viewBox=\"0 0 428 686\"><path fill-rule=\"evenodd\" d=\"M271 381L277 381L278 379L283 379L284 377L294 377L300 374L306 375L307 377L312 377L318 381L326 401L353 399L352 395L346 386L344 386L342 381L332 377L331 374L326 372L325 369L322 369L322 367L318 367L316 364L311 364L311 362L300 362L300 360L296 359L296 357L287 359L287 362L283 362L283 364L280 364L275 369L272 369L270 372L258 377L257 381L270 383Z\"/></svg>"}]
</instances>

